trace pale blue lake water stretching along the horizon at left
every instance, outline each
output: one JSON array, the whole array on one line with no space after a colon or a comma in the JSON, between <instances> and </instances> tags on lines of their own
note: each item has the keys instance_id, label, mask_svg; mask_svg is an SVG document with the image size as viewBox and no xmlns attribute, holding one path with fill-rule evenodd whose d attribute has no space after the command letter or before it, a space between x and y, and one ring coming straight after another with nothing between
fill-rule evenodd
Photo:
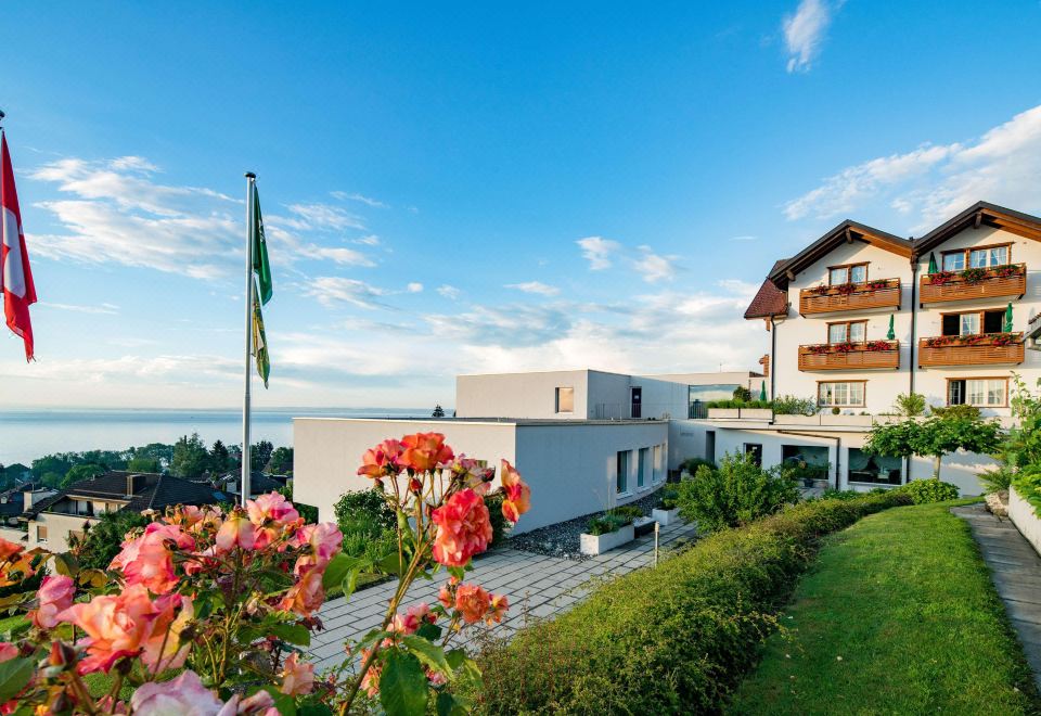
<instances>
[{"instance_id":1,"label":"pale blue lake water stretching along the horizon at left","mask_svg":"<svg viewBox=\"0 0 1041 716\"><path fill-rule=\"evenodd\" d=\"M299 408L253 413L252 442L293 445L293 418L406 418L428 410ZM11 410L0 411L0 464L33 460L52 452L124 450L149 443L172 444L198 433L207 445L242 442L242 411L235 410Z\"/></svg>"}]
</instances>

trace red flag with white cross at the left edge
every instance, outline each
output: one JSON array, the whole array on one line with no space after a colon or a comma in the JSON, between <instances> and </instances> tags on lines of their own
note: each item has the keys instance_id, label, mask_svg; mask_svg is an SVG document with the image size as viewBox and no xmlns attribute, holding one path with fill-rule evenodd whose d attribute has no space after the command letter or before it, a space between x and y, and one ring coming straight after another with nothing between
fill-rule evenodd
<instances>
[{"instance_id":1,"label":"red flag with white cross at the left edge","mask_svg":"<svg viewBox=\"0 0 1041 716\"><path fill-rule=\"evenodd\" d=\"M8 153L8 138L0 131L0 293L8 328L25 342L25 359L33 360L33 325L29 306L36 303L36 287L29 269L29 252L22 233L22 212L14 189L14 170Z\"/></svg>"}]
</instances>

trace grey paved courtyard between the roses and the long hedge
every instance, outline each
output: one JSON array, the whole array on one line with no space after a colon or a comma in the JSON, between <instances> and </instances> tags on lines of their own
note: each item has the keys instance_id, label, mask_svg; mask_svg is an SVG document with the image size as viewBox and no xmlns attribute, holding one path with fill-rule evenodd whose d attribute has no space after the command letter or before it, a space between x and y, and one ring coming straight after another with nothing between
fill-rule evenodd
<instances>
[{"instance_id":1,"label":"grey paved courtyard between the roses and the long hedge","mask_svg":"<svg viewBox=\"0 0 1041 716\"><path fill-rule=\"evenodd\" d=\"M692 539L694 533L692 525L682 522L661 527L661 551ZM525 619L544 618L570 609L589 592L591 580L626 574L653 561L654 533L581 562L516 549L497 550L474 560L472 580L489 592L509 598L510 611L503 623L496 626L494 634L510 636ZM402 611L419 602L435 603L447 578L442 571L433 581L413 583ZM387 581L355 593L347 602L336 599L322 606L319 616L325 630L312 636L310 648L318 672L343 663L346 640L363 637L383 623L396 586Z\"/></svg>"}]
</instances>

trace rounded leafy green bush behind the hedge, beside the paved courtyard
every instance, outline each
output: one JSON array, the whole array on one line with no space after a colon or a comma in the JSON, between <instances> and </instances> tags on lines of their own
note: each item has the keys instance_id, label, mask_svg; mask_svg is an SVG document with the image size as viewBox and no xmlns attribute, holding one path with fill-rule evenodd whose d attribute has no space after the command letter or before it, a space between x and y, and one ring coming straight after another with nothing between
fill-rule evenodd
<instances>
[{"instance_id":1,"label":"rounded leafy green bush behind the hedge, beside the paved courtyard","mask_svg":"<svg viewBox=\"0 0 1041 716\"><path fill-rule=\"evenodd\" d=\"M702 465L694 480L679 484L679 490L680 515L696 520L703 532L736 527L799 498L783 469L763 470L747 453L724 456L718 470Z\"/></svg>"}]
</instances>

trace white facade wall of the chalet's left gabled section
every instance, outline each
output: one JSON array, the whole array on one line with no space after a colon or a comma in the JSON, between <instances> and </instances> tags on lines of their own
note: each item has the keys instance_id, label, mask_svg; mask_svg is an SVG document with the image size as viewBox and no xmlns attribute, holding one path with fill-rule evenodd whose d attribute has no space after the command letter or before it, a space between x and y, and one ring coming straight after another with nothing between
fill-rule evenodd
<instances>
[{"instance_id":1,"label":"white facade wall of the chalet's left gabled section","mask_svg":"<svg viewBox=\"0 0 1041 716\"><path fill-rule=\"evenodd\" d=\"M868 261L868 280L900 279L901 310L840 311L836 314L799 316L799 292L820 284L827 284L827 267ZM792 305L788 317L777 323L776 353L771 370L776 373L775 393L817 399L819 381L866 380L865 407L844 408L843 412L876 413L888 411L894 398L909 389L911 365L911 263L908 258L872 246L861 241L841 244L827 256L800 271L788 283L788 301ZM799 346L827 343L828 322L868 320L868 340L883 341L889 331L889 316L896 315L895 332L900 341L900 368L894 370L799 370ZM769 340L769 334L768 340ZM831 410L831 408L827 408Z\"/></svg>"}]
</instances>

